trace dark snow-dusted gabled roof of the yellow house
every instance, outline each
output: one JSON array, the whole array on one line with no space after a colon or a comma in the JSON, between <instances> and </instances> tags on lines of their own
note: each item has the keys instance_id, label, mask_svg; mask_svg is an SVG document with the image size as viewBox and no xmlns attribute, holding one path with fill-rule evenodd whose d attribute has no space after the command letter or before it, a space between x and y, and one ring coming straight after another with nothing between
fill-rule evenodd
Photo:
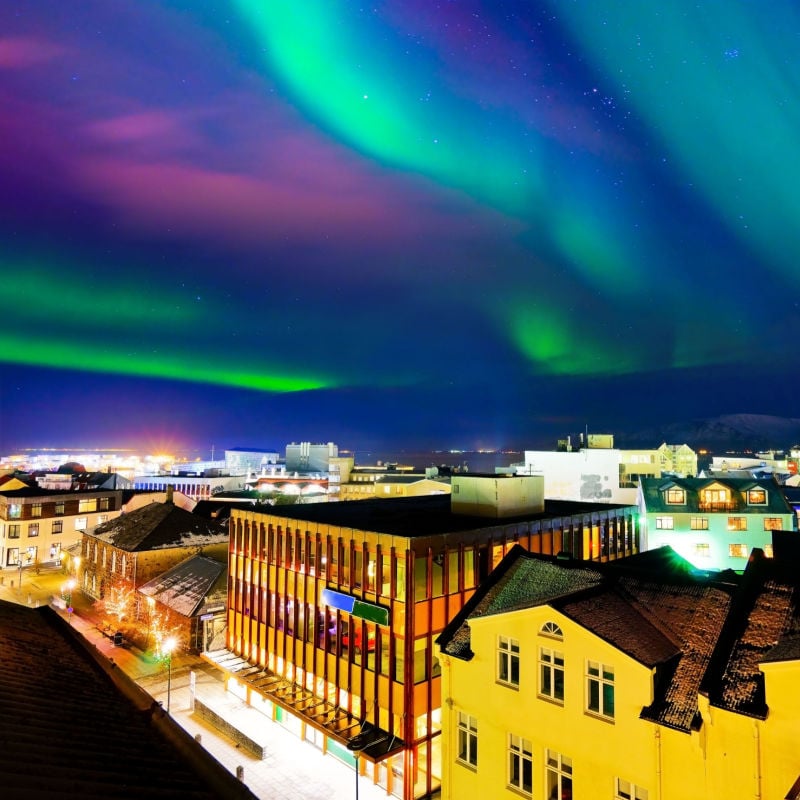
<instances>
[{"instance_id":1,"label":"dark snow-dusted gabled roof of the yellow house","mask_svg":"<svg viewBox=\"0 0 800 800\"><path fill-rule=\"evenodd\" d=\"M472 657L474 617L550 605L649 668L657 668L654 702L642 717L689 731L697 696L722 631L735 586L678 569L654 572L654 558L598 564L529 553L515 546L437 639L442 651ZM665 553L658 558L666 561ZM678 566L680 563L678 562Z\"/></svg>"}]
</instances>

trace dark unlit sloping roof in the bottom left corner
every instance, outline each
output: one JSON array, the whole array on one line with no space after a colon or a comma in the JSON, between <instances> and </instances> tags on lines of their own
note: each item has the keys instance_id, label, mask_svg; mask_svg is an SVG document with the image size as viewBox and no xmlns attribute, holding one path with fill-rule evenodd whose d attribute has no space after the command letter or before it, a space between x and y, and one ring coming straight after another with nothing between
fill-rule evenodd
<instances>
[{"instance_id":1,"label":"dark unlit sloping roof in the bottom left corner","mask_svg":"<svg viewBox=\"0 0 800 800\"><path fill-rule=\"evenodd\" d=\"M52 609L0 601L3 798L248 798Z\"/></svg>"}]
</instances>

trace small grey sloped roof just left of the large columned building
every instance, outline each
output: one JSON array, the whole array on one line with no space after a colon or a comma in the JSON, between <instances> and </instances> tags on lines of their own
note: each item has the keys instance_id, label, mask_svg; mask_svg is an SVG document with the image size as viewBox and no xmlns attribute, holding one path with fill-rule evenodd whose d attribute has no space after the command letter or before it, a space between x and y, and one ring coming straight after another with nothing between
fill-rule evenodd
<instances>
[{"instance_id":1,"label":"small grey sloped roof just left of the large columned building","mask_svg":"<svg viewBox=\"0 0 800 800\"><path fill-rule=\"evenodd\" d=\"M191 617L203 608L209 594L226 595L227 572L227 564L208 556L192 556L143 584L139 591L176 613Z\"/></svg>"}]
</instances>

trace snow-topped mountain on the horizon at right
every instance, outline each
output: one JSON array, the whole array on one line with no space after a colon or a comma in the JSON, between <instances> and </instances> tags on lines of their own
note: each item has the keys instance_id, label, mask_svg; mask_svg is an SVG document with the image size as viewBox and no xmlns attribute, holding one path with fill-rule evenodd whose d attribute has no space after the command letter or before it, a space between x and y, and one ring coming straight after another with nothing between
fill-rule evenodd
<instances>
[{"instance_id":1,"label":"snow-topped mountain on the horizon at right","mask_svg":"<svg viewBox=\"0 0 800 800\"><path fill-rule=\"evenodd\" d=\"M617 447L688 444L694 450L787 450L800 444L800 419L765 414L727 414L690 422L673 422L614 437Z\"/></svg>"}]
</instances>

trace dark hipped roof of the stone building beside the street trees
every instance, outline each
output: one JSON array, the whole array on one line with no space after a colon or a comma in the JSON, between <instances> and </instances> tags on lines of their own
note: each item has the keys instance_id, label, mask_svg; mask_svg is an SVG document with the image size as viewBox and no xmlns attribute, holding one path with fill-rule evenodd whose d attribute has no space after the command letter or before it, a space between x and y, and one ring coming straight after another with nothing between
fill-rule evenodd
<instances>
[{"instance_id":1,"label":"dark hipped roof of the stone building beside the street trees","mask_svg":"<svg viewBox=\"0 0 800 800\"><path fill-rule=\"evenodd\" d=\"M218 544L228 538L224 523L212 522L173 503L148 503L122 514L91 534L128 552Z\"/></svg>"}]
</instances>

